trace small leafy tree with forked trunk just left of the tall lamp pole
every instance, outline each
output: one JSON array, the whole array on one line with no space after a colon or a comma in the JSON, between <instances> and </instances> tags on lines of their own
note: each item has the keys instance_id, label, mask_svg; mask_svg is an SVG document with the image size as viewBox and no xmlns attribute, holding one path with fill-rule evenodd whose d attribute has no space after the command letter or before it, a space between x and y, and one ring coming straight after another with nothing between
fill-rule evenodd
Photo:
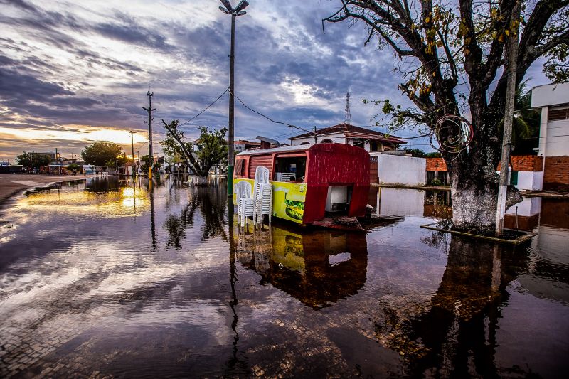
<instances>
[{"instance_id":1,"label":"small leafy tree with forked trunk just left of the tall lamp pole","mask_svg":"<svg viewBox=\"0 0 569 379\"><path fill-rule=\"evenodd\" d=\"M175 119L170 124L162 120L166 128L166 139L160 142L162 149L169 156L179 154L195 174L193 184L206 186L211 167L227 162L227 128L209 131L207 127L199 127L198 142L191 144L184 141L184 132L178 129L179 121Z\"/></svg>"}]
</instances>

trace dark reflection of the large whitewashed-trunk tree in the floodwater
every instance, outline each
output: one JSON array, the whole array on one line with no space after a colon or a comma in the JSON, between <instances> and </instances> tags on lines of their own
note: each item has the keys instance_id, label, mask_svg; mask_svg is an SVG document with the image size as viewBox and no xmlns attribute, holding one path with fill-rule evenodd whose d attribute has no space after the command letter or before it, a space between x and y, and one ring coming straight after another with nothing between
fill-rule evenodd
<instances>
[{"instance_id":1,"label":"dark reflection of the large whitewashed-trunk tree in the floodwater","mask_svg":"<svg viewBox=\"0 0 569 379\"><path fill-rule=\"evenodd\" d=\"M457 236L435 235L424 242L445 245L447 239L447 265L430 309L413 318L385 308L376 336L403 356L411 377L497 377L496 329L509 298L506 285L527 257L513 247Z\"/></svg>"}]
</instances>

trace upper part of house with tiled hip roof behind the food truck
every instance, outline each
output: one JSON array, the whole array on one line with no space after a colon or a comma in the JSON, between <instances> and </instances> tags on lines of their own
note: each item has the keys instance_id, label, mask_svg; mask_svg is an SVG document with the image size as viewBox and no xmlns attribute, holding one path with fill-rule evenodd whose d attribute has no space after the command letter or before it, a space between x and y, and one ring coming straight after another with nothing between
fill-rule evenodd
<instances>
[{"instance_id":1,"label":"upper part of house with tiled hip roof behind the food truck","mask_svg":"<svg viewBox=\"0 0 569 379\"><path fill-rule=\"evenodd\" d=\"M397 136L376 132L375 130L356 127L350 124L338 124L319 129L316 132L290 137L291 146L305 144L349 144L359 146L368 152L394 151L400 144L406 144Z\"/></svg>"}]
</instances>

